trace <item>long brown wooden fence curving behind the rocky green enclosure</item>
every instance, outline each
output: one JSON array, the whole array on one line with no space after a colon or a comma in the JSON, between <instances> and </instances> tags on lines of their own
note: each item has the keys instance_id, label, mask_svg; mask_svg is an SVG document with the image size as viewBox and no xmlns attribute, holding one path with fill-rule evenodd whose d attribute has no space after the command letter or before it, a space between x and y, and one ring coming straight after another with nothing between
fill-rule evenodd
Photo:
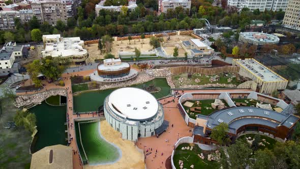
<instances>
[{"instance_id":1,"label":"long brown wooden fence curving behind the rocky green enclosure","mask_svg":"<svg viewBox=\"0 0 300 169\"><path fill-rule=\"evenodd\" d=\"M218 68L199 68L193 66L179 66L169 68L173 75L181 73L200 73L205 75L214 75L220 73L237 73L239 71L238 66L223 66Z\"/></svg>"}]
</instances>

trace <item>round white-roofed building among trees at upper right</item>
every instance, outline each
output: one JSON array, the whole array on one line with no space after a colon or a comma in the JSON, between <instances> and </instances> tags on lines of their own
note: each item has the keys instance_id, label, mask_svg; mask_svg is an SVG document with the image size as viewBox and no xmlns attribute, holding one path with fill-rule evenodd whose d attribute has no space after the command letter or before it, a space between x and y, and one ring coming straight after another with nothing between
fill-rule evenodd
<instances>
[{"instance_id":1,"label":"round white-roofed building among trees at upper right","mask_svg":"<svg viewBox=\"0 0 300 169\"><path fill-rule=\"evenodd\" d=\"M238 40L244 43L261 46L279 43L279 38L277 36L259 32L241 32L239 33Z\"/></svg>"}]
</instances>

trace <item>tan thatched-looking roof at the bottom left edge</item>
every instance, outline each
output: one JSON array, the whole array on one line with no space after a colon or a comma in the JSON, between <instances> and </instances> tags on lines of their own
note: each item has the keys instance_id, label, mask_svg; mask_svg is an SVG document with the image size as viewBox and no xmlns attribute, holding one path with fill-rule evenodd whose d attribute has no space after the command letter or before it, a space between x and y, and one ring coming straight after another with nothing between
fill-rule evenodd
<instances>
[{"instance_id":1,"label":"tan thatched-looking roof at the bottom left edge","mask_svg":"<svg viewBox=\"0 0 300 169\"><path fill-rule=\"evenodd\" d=\"M45 147L32 155L31 169L73 168L72 148L55 145Z\"/></svg>"}]
</instances>

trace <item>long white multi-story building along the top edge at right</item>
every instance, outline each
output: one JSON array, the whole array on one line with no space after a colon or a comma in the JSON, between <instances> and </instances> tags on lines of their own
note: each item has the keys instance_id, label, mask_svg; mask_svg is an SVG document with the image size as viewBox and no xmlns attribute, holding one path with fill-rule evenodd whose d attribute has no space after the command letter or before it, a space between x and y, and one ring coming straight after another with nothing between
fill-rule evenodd
<instances>
[{"instance_id":1,"label":"long white multi-story building along the top edge at right","mask_svg":"<svg viewBox=\"0 0 300 169\"><path fill-rule=\"evenodd\" d=\"M287 8L288 0L228 0L228 6L234 6L242 10L243 8L249 8L250 11L254 11L255 9L259 9L259 11L263 12L267 11L279 11L282 9L285 11Z\"/></svg>"}]
</instances>

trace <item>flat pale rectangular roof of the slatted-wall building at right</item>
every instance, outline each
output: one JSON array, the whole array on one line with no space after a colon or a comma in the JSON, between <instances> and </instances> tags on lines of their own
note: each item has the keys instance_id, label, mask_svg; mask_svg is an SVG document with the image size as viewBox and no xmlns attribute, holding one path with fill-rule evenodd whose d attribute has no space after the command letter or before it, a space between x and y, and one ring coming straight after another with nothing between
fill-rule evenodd
<instances>
[{"instance_id":1,"label":"flat pale rectangular roof of the slatted-wall building at right","mask_svg":"<svg viewBox=\"0 0 300 169\"><path fill-rule=\"evenodd\" d=\"M255 59L235 60L237 65L244 67L263 81L286 81L285 78L265 67Z\"/></svg>"}]
</instances>

